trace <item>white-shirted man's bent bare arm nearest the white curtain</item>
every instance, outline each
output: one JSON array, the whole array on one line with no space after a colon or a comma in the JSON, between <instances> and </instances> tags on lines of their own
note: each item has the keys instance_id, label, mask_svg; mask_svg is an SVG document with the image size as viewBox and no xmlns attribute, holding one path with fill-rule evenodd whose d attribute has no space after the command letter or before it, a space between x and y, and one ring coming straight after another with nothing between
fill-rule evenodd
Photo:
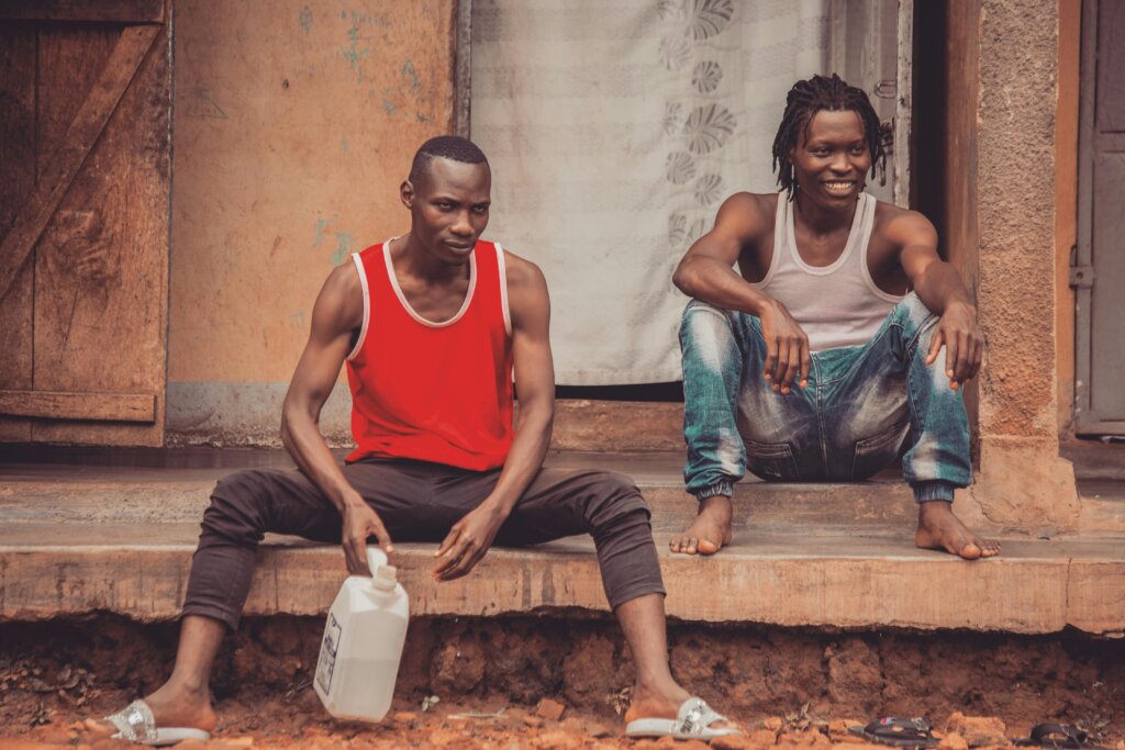
<instances>
[{"instance_id":1,"label":"white-shirted man's bent bare arm nearest the white curtain","mask_svg":"<svg viewBox=\"0 0 1125 750\"><path fill-rule=\"evenodd\" d=\"M762 198L747 192L723 201L714 228L692 244L672 281L688 297L762 320L766 342L763 372L774 390L789 394L794 381L802 388L809 385L809 336L784 305L752 287L734 268L744 247L753 247L773 232L774 217L763 204Z\"/></svg>"}]
</instances>

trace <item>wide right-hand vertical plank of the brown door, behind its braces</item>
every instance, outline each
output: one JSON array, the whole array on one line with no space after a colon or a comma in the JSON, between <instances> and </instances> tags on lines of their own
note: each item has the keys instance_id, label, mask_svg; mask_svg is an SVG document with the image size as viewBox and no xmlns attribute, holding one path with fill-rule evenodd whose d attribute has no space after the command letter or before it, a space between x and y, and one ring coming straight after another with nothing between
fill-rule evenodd
<instances>
[{"instance_id":1,"label":"wide right-hand vertical plank of the brown door, behind its braces","mask_svg":"<svg viewBox=\"0 0 1125 750\"><path fill-rule=\"evenodd\" d=\"M40 144L64 136L108 58L107 27L43 27ZM33 440L160 445L168 341L171 193L169 29L154 43L35 251L37 391L155 394L151 422L36 421ZM92 75L82 70L93 61ZM47 117L50 112L50 118Z\"/></svg>"}]
</instances>

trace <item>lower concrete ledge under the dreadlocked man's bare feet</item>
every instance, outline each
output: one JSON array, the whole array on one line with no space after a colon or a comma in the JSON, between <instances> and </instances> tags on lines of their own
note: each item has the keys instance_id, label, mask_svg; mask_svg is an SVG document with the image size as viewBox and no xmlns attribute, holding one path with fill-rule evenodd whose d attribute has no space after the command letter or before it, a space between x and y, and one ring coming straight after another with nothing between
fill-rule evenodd
<instances>
[{"instance_id":1,"label":"lower concrete ledge under the dreadlocked man's bare feet","mask_svg":"<svg viewBox=\"0 0 1125 750\"><path fill-rule=\"evenodd\" d=\"M34 621L93 612L141 621L174 617L195 548L191 530L116 526L104 533L147 535L151 541L0 546L0 618ZM168 539L184 535L179 543ZM742 534L709 559L667 553L667 535L657 544L668 614L686 621L1014 633L1051 633L1068 625L1091 633L1125 631L1120 544L1017 541L1007 543L1006 557L975 563L916 550L908 539ZM496 549L472 575L449 584L430 576L434 549L405 544L396 555L414 614L606 609L587 540ZM344 576L339 548L274 540L260 551L246 614L323 614Z\"/></svg>"}]
</instances>

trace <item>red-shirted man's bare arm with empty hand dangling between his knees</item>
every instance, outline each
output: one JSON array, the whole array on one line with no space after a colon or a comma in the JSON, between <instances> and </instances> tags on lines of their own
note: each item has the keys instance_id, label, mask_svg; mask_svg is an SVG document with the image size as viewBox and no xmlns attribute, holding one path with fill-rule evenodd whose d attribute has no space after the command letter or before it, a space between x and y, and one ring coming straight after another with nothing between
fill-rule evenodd
<instances>
[{"instance_id":1,"label":"red-shirted man's bare arm with empty hand dangling between his knees","mask_svg":"<svg viewBox=\"0 0 1125 750\"><path fill-rule=\"evenodd\" d=\"M548 336L550 300L542 272L506 255L508 309L512 316L512 358L520 416L512 450L492 494L453 525L435 553L440 580L465 576L484 558L501 524L536 478L551 442L555 418L555 365Z\"/></svg>"}]
</instances>

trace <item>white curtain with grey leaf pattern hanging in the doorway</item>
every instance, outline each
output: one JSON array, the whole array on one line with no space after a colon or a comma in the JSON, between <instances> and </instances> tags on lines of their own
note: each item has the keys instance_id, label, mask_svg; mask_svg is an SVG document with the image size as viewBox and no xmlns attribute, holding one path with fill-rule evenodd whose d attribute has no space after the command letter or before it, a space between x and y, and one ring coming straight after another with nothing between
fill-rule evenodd
<instances>
[{"instance_id":1,"label":"white curtain with grey leaf pattern hanging in the doorway","mask_svg":"<svg viewBox=\"0 0 1125 750\"><path fill-rule=\"evenodd\" d=\"M560 385L678 380L672 272L728 195L770 191L828 0L474 0L486 236L542 268Z\"/></svg>"}]
</instances>

